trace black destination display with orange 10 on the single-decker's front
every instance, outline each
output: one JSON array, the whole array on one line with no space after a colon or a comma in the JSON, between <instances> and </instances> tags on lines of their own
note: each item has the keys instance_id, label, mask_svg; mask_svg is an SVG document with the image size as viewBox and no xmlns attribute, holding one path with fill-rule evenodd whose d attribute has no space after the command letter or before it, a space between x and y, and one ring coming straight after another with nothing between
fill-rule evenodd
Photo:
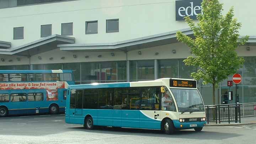
<instances>
[{"instance_id":1,"label":"black destination display with orange 10 on the single-decker's front","mask_svg":"<svg viewBox=\"0 0 256 144\"><path fill-rule=\"evenodd\" d=\"M186 87L186 88L196 88L195 80L175 80L170 79L170 87Z\"/></svg>"}]
</instances>

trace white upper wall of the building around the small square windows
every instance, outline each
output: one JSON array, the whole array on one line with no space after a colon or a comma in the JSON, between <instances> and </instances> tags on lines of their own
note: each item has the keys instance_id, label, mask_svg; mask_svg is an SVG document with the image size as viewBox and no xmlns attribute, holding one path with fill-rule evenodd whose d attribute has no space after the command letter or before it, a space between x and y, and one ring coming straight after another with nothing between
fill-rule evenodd
<instances>
[{"instance_id":1,"label":"white upper wall of the building around the small square windows","mask_svg":"<svg viewBox=\"0 0 256 144\"><path fill-rule=\"evenodd\" d=\"M234 6L242 22L241 35L256 35L254 0L220 0L224 12ZM106 20L119 18L119 32L106 33ZM98 34L85 34L85 21L98 20ZM61 34L61 23L73 22L76 43L110 43L188 28L175 21L175 0L75 0L0 9L0 40L12 47L36 41L41 25L52 24ZM13 39L13 28L24 26L24 39Z\"/></svg>"}]
</instances>

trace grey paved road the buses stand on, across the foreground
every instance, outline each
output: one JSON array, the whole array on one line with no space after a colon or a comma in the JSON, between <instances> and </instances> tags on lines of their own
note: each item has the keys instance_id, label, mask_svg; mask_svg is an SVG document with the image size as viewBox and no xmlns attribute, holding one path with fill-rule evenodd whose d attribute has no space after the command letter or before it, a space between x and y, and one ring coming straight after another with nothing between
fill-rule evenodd
<instances>
[{"instance_id":1,"label":"grey paved road the buses stand on, across the foreground","mask_svg":"<svg viewBox=\"0 0 256 144\"><path fill-rule=\"evenodd\" d=\"M11 116L0 118L0 144L236 144L255 143L256 125L205 127L202 132L181 130L174 135L160 130L98 127L66 124L64 115Z\"/></svg>"}]
</instances>

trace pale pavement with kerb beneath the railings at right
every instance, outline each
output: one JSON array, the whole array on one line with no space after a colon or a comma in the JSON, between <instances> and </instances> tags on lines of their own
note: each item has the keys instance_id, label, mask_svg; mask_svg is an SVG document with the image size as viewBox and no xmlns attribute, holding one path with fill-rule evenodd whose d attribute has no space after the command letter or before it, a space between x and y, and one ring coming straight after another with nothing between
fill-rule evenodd
<instances>
[{"instance_id":1,"label":"pale pavement with kerb beneath the railings at right","mask_svg":"<svg viewBox=\"0 0 256 144\"><path fill-rule=\"evenodd\" d=\"M238 119L239 120L239 119ZM219 121L217 122L209 122L209 124L206 123L206 126L247 126L247 125L255 125L256 124L256 117L241 117L241 123L235 123L235 122L221 122L219 123Z\"/></svg>"}]
</instances>

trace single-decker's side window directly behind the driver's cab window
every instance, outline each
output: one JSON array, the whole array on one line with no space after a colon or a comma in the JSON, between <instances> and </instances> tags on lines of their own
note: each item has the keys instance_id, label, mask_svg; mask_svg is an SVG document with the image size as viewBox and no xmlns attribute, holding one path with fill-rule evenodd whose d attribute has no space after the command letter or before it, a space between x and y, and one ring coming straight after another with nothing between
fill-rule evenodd
<instances>
[{"instance_id":1,"label":"single-decker's side window directly behind the driver's cab window","mask_svg":"<svg viewBox=\"0 0 256 144\"><path fill-rule=\"evenodd\" d=\"M140 110L160 110L160 87L141 88L142 102Z\"/></svg>"}]
</instances>

